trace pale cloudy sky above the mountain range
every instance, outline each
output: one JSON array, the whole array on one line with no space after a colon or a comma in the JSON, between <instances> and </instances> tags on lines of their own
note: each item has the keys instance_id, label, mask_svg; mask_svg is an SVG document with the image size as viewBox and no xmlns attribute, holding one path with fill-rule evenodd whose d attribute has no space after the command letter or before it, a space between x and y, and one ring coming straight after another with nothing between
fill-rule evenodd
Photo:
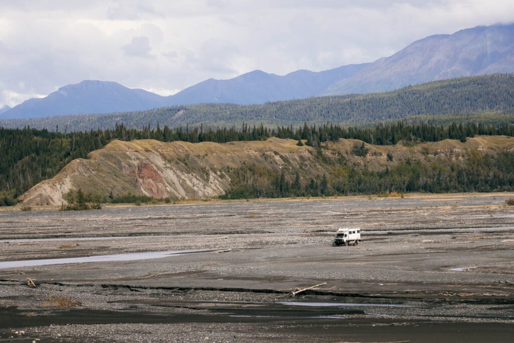
<instances>
[{"instance_id":1,"label":"pale cloudy sky above the mountain range","mask_svg":"<svg viewBox=\"0 0 514 343\"><path fill-rule=\"evenodd\" d=\"M86 79L170 95L254 69L330 69L513 21L512 0L0 0L0 107Z\"/></svg>"}]
</instances>

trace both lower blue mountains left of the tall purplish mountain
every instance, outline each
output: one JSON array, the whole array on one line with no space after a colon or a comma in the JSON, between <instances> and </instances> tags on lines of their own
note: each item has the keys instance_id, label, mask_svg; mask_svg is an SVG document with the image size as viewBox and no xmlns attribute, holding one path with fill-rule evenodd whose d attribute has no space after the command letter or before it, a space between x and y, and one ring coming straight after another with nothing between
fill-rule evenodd
<instances>
[{"instance_id":1,"label":"both lower blue mountains left of the tall purplish mountain","mask_svg":"<svg viewBox=\"0 0 514 343\"><path fill-rule=\"evenodd\" d=\"M209 79L169 96L131 89L116 82L82 81L67 85L45 98L30 99L5 111L3 119L97 114L150 110L156 107L230 102L258 104L319 94L336 81L348 77L366 64L347 65L325 71L298 70L285 76L255 70L229 80Z\"/></svg>"}]
</instances>

